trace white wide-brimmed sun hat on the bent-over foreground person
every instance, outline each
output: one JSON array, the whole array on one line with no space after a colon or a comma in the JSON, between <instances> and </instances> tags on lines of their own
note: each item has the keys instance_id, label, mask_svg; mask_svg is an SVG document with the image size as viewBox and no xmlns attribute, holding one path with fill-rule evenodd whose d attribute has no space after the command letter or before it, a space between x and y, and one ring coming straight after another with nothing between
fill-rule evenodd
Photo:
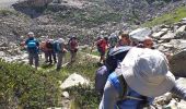
<instances>
[{"instance_id":1,"label":"white wide-brimmed sun hat on the bent-over foreground person","mask_svg":"<svg viewBox=\"0 0 186 109\"><path fill-rule=\"evenodd\" d=\"M148 97L163 95L175 85L166 57L159 50L131 48L121 62L121 72L130 88Z\"/></svg>"}]
</instances>

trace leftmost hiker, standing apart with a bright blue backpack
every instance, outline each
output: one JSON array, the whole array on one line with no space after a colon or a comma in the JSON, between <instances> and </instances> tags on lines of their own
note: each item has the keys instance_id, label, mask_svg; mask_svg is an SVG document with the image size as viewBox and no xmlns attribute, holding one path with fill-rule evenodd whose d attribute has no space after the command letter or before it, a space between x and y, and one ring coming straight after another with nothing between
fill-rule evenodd
<instances>
[{"instance_id":1,"label":"leftmost hiker, standing apart with a bright blue backpack","mask_svg":"<svg viewBox=\"0 0 186 109\"><path fill-rule=\"evenodd\" d=\"M37 39L34 37L34 33L30 32L27 34L27 39L25 41L25 45L27 47L27 52L28 52L28 62L30 65L33 65L33 61L35 61L35 69L37 70L38 66L38 51L39 51L39 43Z\"/></svg>"}]
</instances>

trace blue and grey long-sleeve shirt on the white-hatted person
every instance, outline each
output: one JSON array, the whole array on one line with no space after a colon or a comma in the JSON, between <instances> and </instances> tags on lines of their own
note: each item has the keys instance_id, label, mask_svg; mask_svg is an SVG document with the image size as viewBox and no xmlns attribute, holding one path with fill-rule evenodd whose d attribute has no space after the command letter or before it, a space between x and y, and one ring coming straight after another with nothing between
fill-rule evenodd
<instances>
[{"instance_id":1,"label":"blue and grey long-sleeve shirt on the white-hatted person","mask_svg":"<svg viewBox=\"0 0 186 109\"><path fill-rule=\"evenodd\" d=\"M116 84L119 84L119 83L116 83ZM170 93L175 94L182 99L186 100L186 87L182 87L177 83L170 90ZM141 95L132 90L130 87L128 87L126 96L140 98ZM147 97L147 100L151 104L153 98ZM120 100L118 90L114 86L112 80L109 80L108 77L98 109L118 109L117 107L119 107L119 109L140 109L139 108L140 104L141 104L140 100L136 100L136 99Z\"/></svg>"}]
</instances>

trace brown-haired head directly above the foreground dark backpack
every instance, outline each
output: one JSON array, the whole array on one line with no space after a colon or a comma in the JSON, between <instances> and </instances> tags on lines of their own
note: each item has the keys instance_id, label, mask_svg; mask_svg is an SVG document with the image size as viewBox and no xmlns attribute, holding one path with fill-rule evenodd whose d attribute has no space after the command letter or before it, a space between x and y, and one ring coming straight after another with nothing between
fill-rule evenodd
<instances>
[{"instance_id":1,"label":"brown-haired head directly above the foreground dark backpack","mask_svg":"<svg viewBox=\"0 0 186 109\"><path fill-rule=\"evenodd\" d=\"M125 45L130 45L130 38L129 38L129 34L128 33L123 33L120 36L119 36L119 39L123 41L123 44Z\"/></svg>"}]
</instances>

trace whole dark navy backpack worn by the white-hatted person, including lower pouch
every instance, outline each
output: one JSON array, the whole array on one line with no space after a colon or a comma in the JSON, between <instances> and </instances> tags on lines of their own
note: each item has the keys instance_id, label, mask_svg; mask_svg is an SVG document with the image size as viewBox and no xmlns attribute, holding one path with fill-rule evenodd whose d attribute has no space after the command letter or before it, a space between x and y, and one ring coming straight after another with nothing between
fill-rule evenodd
<instances>
[{"instance_id":1,"label":"whole dark navy backpack worn by the white-hatted person, including lower pouch","mask_svg":"<svg viewBox=\"0 0 186 109\"><path fill-rule=\"evenodd\" d=\"M96 92L101 94L103 93L108 75L115 71L118 63L123 61L130 48L130 46L125 46L109 49L106 57L105 65L98 68L95 72Z\"/></svg>"}]
</instances>

